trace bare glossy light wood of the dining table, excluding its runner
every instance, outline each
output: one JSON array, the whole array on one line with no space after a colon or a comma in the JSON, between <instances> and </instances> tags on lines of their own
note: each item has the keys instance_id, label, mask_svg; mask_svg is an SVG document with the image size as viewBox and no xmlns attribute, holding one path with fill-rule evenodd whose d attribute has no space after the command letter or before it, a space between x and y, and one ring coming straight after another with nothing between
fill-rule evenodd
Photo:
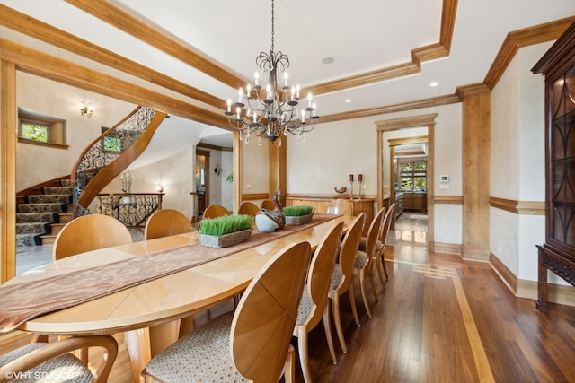
<instances>
[{"instance_id":1,"label":"bare glossy light wood of the dining table, excluding its runner","mask_svg":"<svg viewBox=\"0 0 575 383\"><path fill-rule=\"evenodd\" d=\"M57 309L27 319L16 328L42 335L97 335L125 332L128 353L136 381L147 362L178 338L179 319L188 318L243 292L263 265L288 245L307 241L316 248L324 234L337 222L348 223L349 216L326 216L322 222L261 244L246 247L226 257L194 265L149 282ZM29 283L134 257L162 254L198 244L197 232L102 248L41 265L4 283ZM74 289L74 285L67 286ZM24 293L22 291L22 293ZM0 337L1 340L1 337Z\"/></svg>"}]
</instances>

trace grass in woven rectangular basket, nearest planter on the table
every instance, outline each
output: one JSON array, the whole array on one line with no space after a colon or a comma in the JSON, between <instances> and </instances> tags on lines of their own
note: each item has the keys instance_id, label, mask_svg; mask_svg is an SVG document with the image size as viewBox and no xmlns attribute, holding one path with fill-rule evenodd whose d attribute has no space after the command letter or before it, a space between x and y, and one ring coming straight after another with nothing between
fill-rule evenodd
<instances>
[{"instance_id":1,"label":"grass in woven rectangular basket, nearest planter on the table","mask_svg":"<svg viewBox=\"0 0 575 383\"><path fill-rule=\"evenodd\" d=\"M198 239L207 248L226 248L249 239L251 234L251 216L224 215L201 220Z\"/></svg>"}]
</instances>

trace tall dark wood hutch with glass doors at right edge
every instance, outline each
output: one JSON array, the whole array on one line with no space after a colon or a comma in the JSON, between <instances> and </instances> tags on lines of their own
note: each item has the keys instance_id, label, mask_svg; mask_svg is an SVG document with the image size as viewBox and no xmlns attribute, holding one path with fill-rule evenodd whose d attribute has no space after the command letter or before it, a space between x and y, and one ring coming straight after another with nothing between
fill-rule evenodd
<instances>
[{"instance_id":1,"label":"tall dark wood hutch with glass doors at right edge","mask_svg":"<svg viewBox=\"0 0 575 383\"><path fill-rule=\"evenodd\" d=\"M537 309L547 312L547 270L575 285L575 22L533 67L545 76L545 243Z\"/></svg>"}]
</instances>

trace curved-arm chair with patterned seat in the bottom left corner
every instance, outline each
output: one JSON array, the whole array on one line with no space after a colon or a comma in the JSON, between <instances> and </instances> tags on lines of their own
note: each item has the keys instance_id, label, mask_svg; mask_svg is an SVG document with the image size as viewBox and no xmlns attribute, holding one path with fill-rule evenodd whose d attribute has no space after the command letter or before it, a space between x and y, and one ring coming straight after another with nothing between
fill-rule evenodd
<instances>
[{"instance_id":1,"label":"curved-arm chair with patterned seat in the bottom left corner","mask_svg":"<svg viewBox=\"0 0 575 383\"><path fill-rule=\"evenodd\" d=\"M84 348L104 350L102 361L93 372L73 351ZM118 354L118 343L111 335L73 336L51 343L31 343L0 355L0 382L108 381Z\"/></svg>"}]
</instances>

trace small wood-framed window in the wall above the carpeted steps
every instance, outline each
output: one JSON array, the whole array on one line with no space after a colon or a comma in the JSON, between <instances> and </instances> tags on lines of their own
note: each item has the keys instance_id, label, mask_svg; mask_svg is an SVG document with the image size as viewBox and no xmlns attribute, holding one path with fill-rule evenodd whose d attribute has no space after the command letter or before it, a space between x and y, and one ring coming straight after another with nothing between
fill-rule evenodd
<instances>
[{"instance_id":1,"label":"small wood-framed window in the wall above the carpeted steps","mask_svg":"<svg viewBox=\"0 0 575 383\"><path fill-rule=\"evenodd\" d=\"M66 120L18 108L18 142L67 147Z\"/></svg>"}]
</instances>

